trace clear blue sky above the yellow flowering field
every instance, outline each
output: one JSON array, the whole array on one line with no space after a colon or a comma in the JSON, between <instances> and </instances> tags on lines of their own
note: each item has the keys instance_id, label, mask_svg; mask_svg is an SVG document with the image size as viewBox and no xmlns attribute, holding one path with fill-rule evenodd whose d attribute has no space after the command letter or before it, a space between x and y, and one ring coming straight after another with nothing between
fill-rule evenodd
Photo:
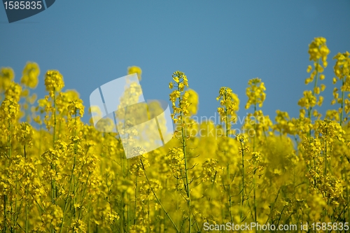
<instances>
[{"instance_id":1,"label":"clear blue sky above the yellow flowering field","mask_svg":"<svg viewBox=\"0 0 350 233\"><path fill-rule=\"evenodd\" d=\"M330 48L325 69L325 108L330 108L337 52L350 51L350 1L63 1L42 13L8 23L0 6L0 66L19 82L26 62L41 68L36 89L45 95L43 75L57 69L65 90L90 93L125 76L127 66L143 70L145 99L169 99L168 83L180 70L200 95L200 116L216 112L218 90L231 87L246 115L248 80L267 87L262 108L297 117L307 78L308 45L318 36ZM321 111L325 111L322 108ZM84 120L88 120L86 114Z\"/></svg>"}]
</instances>

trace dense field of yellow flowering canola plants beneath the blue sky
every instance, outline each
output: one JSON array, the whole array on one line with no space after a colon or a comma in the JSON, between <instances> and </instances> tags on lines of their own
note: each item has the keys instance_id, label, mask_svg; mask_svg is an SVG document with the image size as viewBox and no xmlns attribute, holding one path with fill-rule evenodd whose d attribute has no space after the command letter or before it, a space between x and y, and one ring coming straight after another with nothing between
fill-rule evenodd
<instances>
[{"instance_id":1,"label":"dense field of yellow flowering canola plants beneath the blue sky","mask_svg":"<svg viewBox=\"0 0 350 233\"><path fill-rule=\"evenodd\" d=\"M349 223L350 53L335 55L333 99L325 99L329 53L325 38L311 41L305 83L313 87L297 103L298 118L277 110L272 122L262 112L265 84L249 80L243 133L232 129L240 101L230 87L218 90L221 123L196 122L198 94L185 73L174 72L173 139L149 153L134 147L142 155L129 160L118 132L81 120L83 101L63 90L59 71L44 74L48 94L37 100L31 91L38 64L26 64L20 83L13 69L1 68L1 232L191 233L207 232L204 224ZM139 67L127 73L141 80ZM337 107L323 116L316 110L323 101Z\"/></svg>"}]
</instances>

